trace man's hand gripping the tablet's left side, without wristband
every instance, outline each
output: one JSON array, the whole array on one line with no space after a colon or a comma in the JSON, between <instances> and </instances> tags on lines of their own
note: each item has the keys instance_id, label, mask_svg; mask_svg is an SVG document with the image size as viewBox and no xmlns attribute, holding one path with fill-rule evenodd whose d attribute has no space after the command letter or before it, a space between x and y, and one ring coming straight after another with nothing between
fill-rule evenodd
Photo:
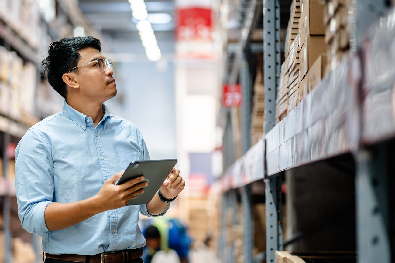
<instances>
[{"instance_id":1,"label":"man's hand gripping the tablet's left side, without wristband","mask_svg":"<svg viewBox=\"0 0 395 263\"><path fill-rule=\"evenodd\" d=\"M122 185L115 185L123 173L124 171L115 173L113 177L105 181L102 189L96 195L96 200L101 204L102 211L124 207L129 200L142 194L144 192L142 188L148 185L146 182L141 183L144 180L143 176L132 179Z\"/></svg>"}]
</instances>

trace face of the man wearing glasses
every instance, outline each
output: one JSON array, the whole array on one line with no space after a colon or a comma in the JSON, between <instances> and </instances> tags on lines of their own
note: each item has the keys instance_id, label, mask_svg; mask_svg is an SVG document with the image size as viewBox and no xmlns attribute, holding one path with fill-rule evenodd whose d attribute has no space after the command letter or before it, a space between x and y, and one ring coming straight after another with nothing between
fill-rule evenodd
<instances>
[{"instance_id":1,"label":"face of the man wearing glasses","mask_svg":"<svg viewBox=\"0 0 395 263\"><path fill-rule=\"evenodd\" d=\"M92 62L103 55L93 47L83 48L78 51L80 60L78 65ZM78 74L75 76L79 83L80 95L90 101L105 102L117 95L117 85L113 78L114 71L105 67L100 71L97 63L90 63L78 67Z\"/></svg>"}]
</instances>

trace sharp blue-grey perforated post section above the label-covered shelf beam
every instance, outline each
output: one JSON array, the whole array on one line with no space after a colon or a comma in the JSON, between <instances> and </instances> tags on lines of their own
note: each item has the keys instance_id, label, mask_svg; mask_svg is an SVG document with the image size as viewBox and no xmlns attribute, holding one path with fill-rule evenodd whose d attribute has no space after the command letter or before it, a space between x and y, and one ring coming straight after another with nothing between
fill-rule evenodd
<instances>
[{"instance_id":1,"label":"sharp blue-grey perforated post section above the label-covered shelf beam","mask_svg":"<svg viewBox=\"0 0 395 263\"><path fill-rule=\"evenodd\" d=\"M265 133L275 125L276 90L280 77L280 5L263 1L263 79L265 83Z\"/></svg>"}]
</instances>

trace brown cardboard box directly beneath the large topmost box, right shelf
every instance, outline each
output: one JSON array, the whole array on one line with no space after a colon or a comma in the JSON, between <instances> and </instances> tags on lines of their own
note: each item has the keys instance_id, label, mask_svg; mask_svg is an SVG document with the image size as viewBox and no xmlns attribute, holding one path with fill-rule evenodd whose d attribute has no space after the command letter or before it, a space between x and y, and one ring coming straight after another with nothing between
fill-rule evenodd
<instances>
[{"instance_id":1,"label":"brown cardboard box directly beneath the large topmost box, right shelf","mask_svg":"<svg viewBox=\"0 0 395 263\"><path fill-rule=\"evenodd\" d=\"M306 42L299 53L299 63L300 63L300 71L299 71L299 79L302 80L303 77L307 74L308 70L316 59L324 54L327 50L327 45L324 41L324 36L318 35L310 35L307 37Z\"/></svg>"}]
</instances>

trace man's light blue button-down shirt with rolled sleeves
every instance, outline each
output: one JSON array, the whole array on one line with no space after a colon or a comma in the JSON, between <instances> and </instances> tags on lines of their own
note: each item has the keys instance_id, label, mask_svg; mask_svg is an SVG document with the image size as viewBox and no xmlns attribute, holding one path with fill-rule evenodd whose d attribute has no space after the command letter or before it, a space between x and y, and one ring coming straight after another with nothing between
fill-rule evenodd
<instances>
[{"instance_id":1,"label":"man's light blue button-down shirt with rolled sleeves","mask_svg":"<svg viewBox=\"0 0 395 263\"><path fill-rule=\"evenodd\" d=\"M55 231L45 224L50 203L95 196L131 161L150 159L139 129L111 115L105 104L102 108L104 117L95 127L92 118L65 101L62 112L31 127L15 150L19 219L26 231L42 237L44 252L94 255L145 245L137 223L139 212L150 216L147 205L105 211Z\"/></svg>"}]
</instances>

